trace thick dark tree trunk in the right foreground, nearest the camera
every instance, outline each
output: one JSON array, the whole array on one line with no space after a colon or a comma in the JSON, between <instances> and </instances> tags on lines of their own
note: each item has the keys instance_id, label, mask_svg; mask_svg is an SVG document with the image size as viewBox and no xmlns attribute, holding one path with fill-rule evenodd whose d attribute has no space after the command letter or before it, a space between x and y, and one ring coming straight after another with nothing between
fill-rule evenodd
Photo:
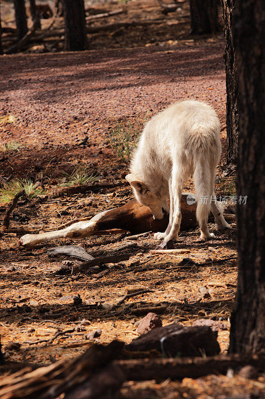
<instances>
[{"instance_id":1,"label":"thick dark tree trunk in the right foreground, nearest the camera","mask_svg":"<svg viewBox=\"0 0 265 399\"><path fill-rule=\"evenodd\" d=\"M238 290L230 352L265 351L265 2L237 0ZM242 197L240 197L242 196ZM246 197L246 204L240 203ZM244 200L243 200L244 201Z\"/></svg>"}]
</instances>

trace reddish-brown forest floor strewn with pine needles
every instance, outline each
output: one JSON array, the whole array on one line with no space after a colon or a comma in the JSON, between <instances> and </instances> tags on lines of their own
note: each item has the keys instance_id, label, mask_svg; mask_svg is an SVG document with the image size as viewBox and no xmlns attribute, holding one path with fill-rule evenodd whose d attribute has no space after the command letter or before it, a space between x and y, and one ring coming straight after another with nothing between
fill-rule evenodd
<instances>
[{"instance_id":1,"label":"reddish-brown forest floor strewn with pine needles","mask_svg":"<svg viewBox=\"0 0 265 399\"><path fill-rule=\"evenodd\" d=\"M144 5L140 1L129 2L128 9L130 4L134 18L140 7L152 12L152 18L157 18L159 12L161 17L154 1L148 0ZM107 6L111 8L111 4ZM181 7L187 13L187 3L181 3ZM174 25L174 31L179 23ZM191 98L211 104L220 118L223 153L216 194L230 200L235 194L234 176L221 177L226 169L223 40L219 34L190 37L188 23L185 16L181 22L183 33L177 31L175 42L169 41L172 36L168 30L173 25L145 27L143 31L138 27L118 33L118 44L113 39L115 35L93 35L94 49L89 51L15 54L1 59L0 117L11 114L14 119L0 125L0 140L6 145L0 153L0 177L38 181L45 190L35 206L20 203L13 211L10 228L57 228L126 203L132 198L124 179L128 164L110 145L113 131L131 129L137 136L150 116L173 101ZM149 36L155 40L147 40ZM19 146L8 149L8 143ZM51 193L71 180L72 173L84 170L96 176L98 182L119 186L49 199ZM185 190L193 191L191 181ZM1 222L6 208L6 204L0 205ZM97 257L118 252L131 242L126 237L61 239L28 250L18 245L19 234L4 233L0 238L0 330L6 358L36 364L71 358L92 344L87 335L98 328L102 332L95 342L106 344L119 339L129 343L138 336L137 322L148 312L147 308L157 309L163 325L175 321L192 325L200 318L222 320L227 330L218 332L218 342L221 352L226 353L237 284L236 259L227 258L236 257L236 224L232 222L231 229L223 232L216 231L214 224L209 227L217 236L210 241L200 240L198 229L182 231L175 244L175 248L183 249L182 254L151 253L157 242L153 234L147 234L138 239L135 249L128 246L128 261L119 268L110 267L103 276L57 275L62 262L79 261L66 256L51 258L47 249L78 244ZM183 257L207 264L174 270ZM220 262L215 263L216 260ZM209 298L202 298L201 286L208 289ZM153 291L111 309L109 304L137 287ZM82 299L79 304L76 300L74 303L78 295ZM53 339L58 330L74 331ZM115 398L221 399L247 398L251 394L260 398L265 379L259 379L208 376L162 384L126 383Z\"/></svg>"}]
</instances>

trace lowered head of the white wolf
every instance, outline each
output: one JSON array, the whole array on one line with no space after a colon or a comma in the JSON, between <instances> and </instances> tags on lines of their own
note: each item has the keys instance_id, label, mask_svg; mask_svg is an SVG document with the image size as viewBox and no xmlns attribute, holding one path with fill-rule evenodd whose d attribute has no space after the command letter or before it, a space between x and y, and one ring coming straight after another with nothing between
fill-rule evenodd
<instances>
[{"instance_id":1,"label":"lowered head of the white wolf","mask_svg":"<svg viewBox=\"0 0 265 399\"><path fill-rule=\"evenodd\" d=\"M136 200L142 205L149 206L154 219L163 219L164 213L169 212L167 200L162 200L158 195L152 193L149 188L133 174L130 173L125 179L132 186Z\"/></svg>"}]
</instances>

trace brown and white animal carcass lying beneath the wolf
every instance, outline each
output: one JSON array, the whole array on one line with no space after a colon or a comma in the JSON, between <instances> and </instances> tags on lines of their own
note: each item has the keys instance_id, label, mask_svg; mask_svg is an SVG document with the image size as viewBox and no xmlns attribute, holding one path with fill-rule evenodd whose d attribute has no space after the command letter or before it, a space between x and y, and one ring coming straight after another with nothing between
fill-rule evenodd
<instances>
[{"instance_id":1,"label":"brown and white animal carcass lying beneath the wolf","mask_svg":"<svg viewBox=\"0 0 265 399\"><path fill-rule=\"evenodd\" d=\"M181 230L197 226L196 203L187 203L187 196L181 197ZM189 197L190 198L190 197ZM102 230L122 229L131 234L144 233L146 231L165 231L169 222L169 216L163 219L154 219L148 206L140 205L136 200L130 200L125 205L105 210L98 213L90 220L80 221L62 230L48 231L41 234L25 234L19 244L27 248L33 248L41 242L47 242L58 238L85 238L89 235L100 234Z\"/></svg>"}]
</instances>

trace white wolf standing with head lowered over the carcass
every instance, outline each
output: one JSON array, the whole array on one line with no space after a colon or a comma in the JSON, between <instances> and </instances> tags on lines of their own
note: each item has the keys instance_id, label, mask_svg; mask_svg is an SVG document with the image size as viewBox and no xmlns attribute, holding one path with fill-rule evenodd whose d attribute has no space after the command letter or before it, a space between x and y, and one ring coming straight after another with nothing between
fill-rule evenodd
<instances>
[{"instance_id":1,"label":"white wolf standing with head lowered over the carcass","mask_svg":"<svg viewBox=\"0 0 265 399\"><path fill-rule=\"evenodd\" d=\"M177 102L146 124L126 180L133 187L138 202L149 206L154 218L161 219L163 210L170 211L166 231L156 233L155 238L164 239L164 242L177 239L181 193L191 175L197 196L200 237L215 237L207 226L210 209L219 230L230 227L214 194L220 155L220 122L208 104Z\"/></svg>"}]
</instances>

